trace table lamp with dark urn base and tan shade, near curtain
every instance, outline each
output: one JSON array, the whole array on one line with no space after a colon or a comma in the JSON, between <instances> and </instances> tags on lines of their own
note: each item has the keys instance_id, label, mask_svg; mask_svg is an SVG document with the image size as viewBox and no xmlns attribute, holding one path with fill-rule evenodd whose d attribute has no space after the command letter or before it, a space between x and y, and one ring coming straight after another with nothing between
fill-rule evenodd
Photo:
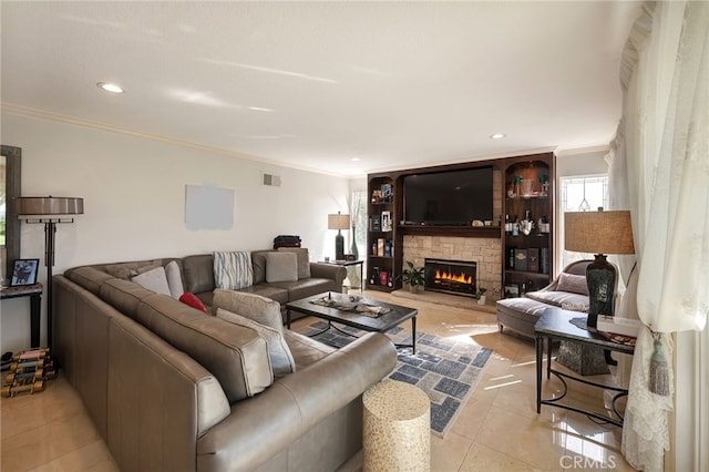
<instances>
[{"instance_id":1,"label":"table lamp with dark urn base and tan shade, near curtain","mask_svg":"<svg viewBox=\"0 0 709 472\"><path fill-rule=\"evenodd\" d=\"M586 268L588 328L596 329L598 315L614 315L616 268L606 254L635 254L630 212L572 212L564 214L566 250L596 254Z\"/></svg>"}]
</instances>

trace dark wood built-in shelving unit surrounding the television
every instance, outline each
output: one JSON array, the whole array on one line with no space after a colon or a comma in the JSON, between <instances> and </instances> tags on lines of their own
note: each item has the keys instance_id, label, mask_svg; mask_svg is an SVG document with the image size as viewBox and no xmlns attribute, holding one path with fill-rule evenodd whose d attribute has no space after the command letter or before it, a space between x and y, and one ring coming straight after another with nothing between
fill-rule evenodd
<instances>
[{"instance_id":1,"label":"dark wood built-in shelving unit surrounding the television","mask_svg":"<svg viewBox=\"0 0 709 472\"><path fill-rule=\"evenodd\" d=\"M392 291L401 288L402 245L404 235L462 236L500 238L502 245L501 286L515 288L517 295L547 285L554 270L554 182L556 161L553 153L523 155L490 161L412 168L368 176L367 288ZM407 175L448 170L493 166L502 175L502 192L494 197L495 212L501 208L501 222L492 226L427 226L404 224L403 178ZM518 181L517 183L515 182ZM532 182L530 182L532 181ZM522 184L525 184L523 192ZM382 217L383 215L383 217ZM521 222L534 220L528 234L505 232L505 215ZM540 218L544 226L540 232ZM389 225L382 227L382 219ZM543 256L544 254L544 256ZM510 265L510 255L514 257ZM514 265L516 257L524 256ZM544 257L544 265L542 265ZM531 260L533 259L533 260ZM531 263L531 264L530 264ZM386 276L382 276L386 273ZM504 291L502 294L505 296ZM512 295L512 294L511 294Z\"/></svg>"}]
</instances>

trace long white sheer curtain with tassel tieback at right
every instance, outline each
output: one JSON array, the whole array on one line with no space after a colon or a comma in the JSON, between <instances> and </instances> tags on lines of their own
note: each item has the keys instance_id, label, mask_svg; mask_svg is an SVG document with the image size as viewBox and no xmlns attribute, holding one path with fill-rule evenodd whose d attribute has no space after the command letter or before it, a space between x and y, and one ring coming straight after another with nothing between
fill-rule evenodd
<instances>
[{"instance_id":1,"label":"long white sheer curtain with tassel tieback at right","mask_svg":"<svg viewBox=\"0 0 709 472\"><path fill-rule=\"evenodd\" d=\"M623 121L610 172L610 206L631 209L638 261L637 285L630 278L619 311L633 317L637 309L646 326L633 359L621 450L633 466L645 471L661 471L670 447L671 334L703 329L691 338L696 342L687 343L693 356L684 351L677 360L707 365L700 353L707 352L709 314L708 68L709 3L646 3L624 53ZM650 391L653 332L668 361L668 396ZM707 374L684 368L678 369L684 374L677 388L695 401L677 403L675 443L680 438L693 441L692 450L682 449L696 459L677 458L677 464L707 470L706 452L700 452L707 441ZM695 415L703 413L703 421L685 424L688 408Z\"/></svg>"}]
</instances>

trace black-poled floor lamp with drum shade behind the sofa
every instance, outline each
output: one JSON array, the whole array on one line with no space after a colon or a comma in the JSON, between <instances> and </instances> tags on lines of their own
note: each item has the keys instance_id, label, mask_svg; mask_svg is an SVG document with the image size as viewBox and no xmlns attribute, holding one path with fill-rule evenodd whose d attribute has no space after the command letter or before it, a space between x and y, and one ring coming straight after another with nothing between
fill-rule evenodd
<instances>
[{"instance_id":1,"label":"black-poled floor lamp with drum shade behind the sofa","mask_svg":"<svg viewBox=\"0 0 709 472\"><path fill-rule=\"evenodd\" d=\"M18 217L29 224L44 225L44 265L47 266L47 346L52 348L52 314L54 298L52 293L52 267L54 267L54 237L56 225L74 223L68 215L82 215L84 199L80 197L20 197Z\"/></svg>"}]
</instances>

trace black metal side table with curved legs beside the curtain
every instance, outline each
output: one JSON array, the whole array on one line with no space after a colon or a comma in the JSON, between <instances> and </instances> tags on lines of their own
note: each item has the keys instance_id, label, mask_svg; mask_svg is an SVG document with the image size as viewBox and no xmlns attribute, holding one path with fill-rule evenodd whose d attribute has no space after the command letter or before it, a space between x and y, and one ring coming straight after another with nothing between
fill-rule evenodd
<instances>
[{"instance_id":1,"label":"black metal side table with curved legs beside the curtain","mask_svg":"<svg viewBox=\"0 0 709 472\"><path fill-rule=\"evenodd\" d=\"M552 368L552 342L554 340L576 342L585 346L598 346L604 349L629 355L633 355L635 352L635 346L609 341L597 332L582 329L572 324L572 320L578 318L579 315L583 316L583 314L579 314L577 311L567 311L561 308L547 308L544 310L538 321L534 326L536 347L536 412L542 412L542 404L551 404L553 407L564 408L566 410L587 414L598 420L607 421L617 427L623 427L623 415L620 414L620 412L618 412L616 402L618 401L618 399L626 397L628 394L628 390L615 386L607 386L604 383L582 379L580 377L561 372ZM544 338L546 338L547 341L546 378L548 380L553 373L564 384L563 393L551 399L542 399L542 365L544 363ZM571 404L558 403L558 401L563 399L568 392L568 386L566 384L565 379L575 380L577 382L586 383L587 386L598 387L604 390L613 390L617 392L613 398L613 412L618 417L618 419L603 415L594 411L584 410L582 408L573 407Z\"/></svg>"}]
</instances>

